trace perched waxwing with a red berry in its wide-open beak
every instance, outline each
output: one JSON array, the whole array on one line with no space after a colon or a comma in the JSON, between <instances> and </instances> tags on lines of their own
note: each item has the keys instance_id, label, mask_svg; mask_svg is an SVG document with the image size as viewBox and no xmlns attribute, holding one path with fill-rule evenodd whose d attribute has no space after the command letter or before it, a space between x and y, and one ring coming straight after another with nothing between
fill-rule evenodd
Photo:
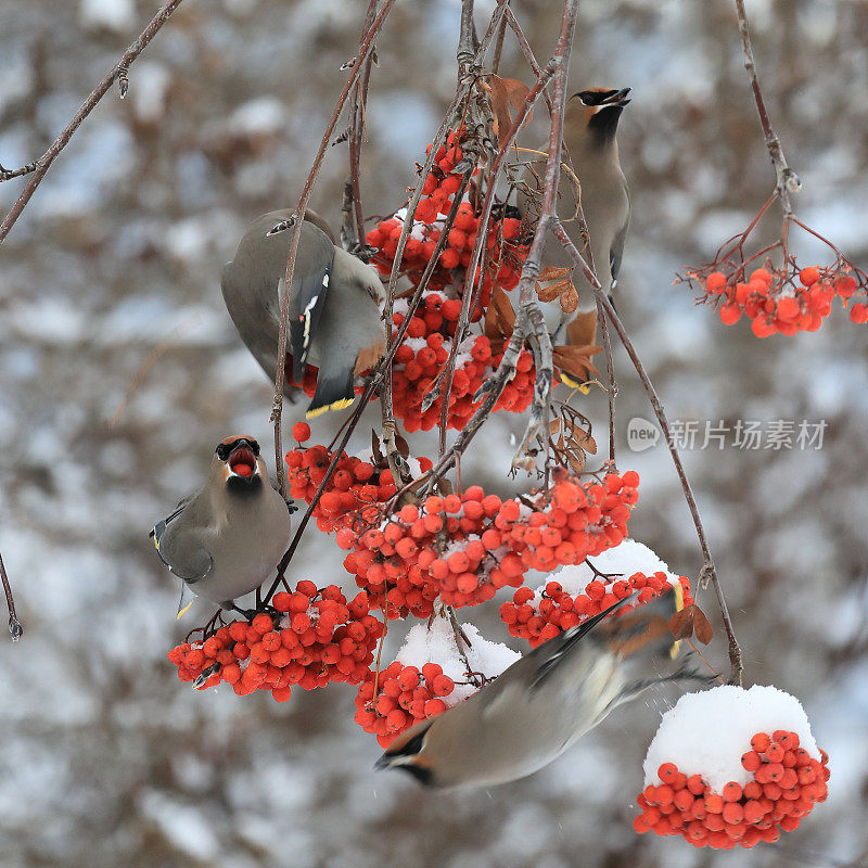
<instances>
[{"instance_id":1,"label":"perched waxwing with a red berry in its wide-open beak","mask_svg":"<svg viewBox=\"0 0 868 868\"><path fill-rule=\"evenodd\" d=\"M271 486L259 444L244 436L220 441L202 490L182 500L151 536L183 587L238 609L235 598L269 578L290 547L290 511ZM189 608L179 605L179 616Z\"/></svg>"}]
</instances>

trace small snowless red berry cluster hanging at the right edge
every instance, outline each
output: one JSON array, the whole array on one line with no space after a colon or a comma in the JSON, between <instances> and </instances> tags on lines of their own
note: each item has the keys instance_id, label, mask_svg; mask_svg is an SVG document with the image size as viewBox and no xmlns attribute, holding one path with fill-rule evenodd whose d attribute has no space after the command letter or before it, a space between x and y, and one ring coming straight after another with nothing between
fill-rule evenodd
<instances>
[{"instance_id":1,"label":"small snowless red berry cluster hanging at the right edge","mask_svg":"<svg viewBox=\"0 0 868 868\"><path fill-rule=\"evenodd\" d=\"M757 268L748 282L712 271L704 280L706 301L715 297L723 304L718 314L727 326L738 322L744 312L757 337L780 333L791 336L800 331L815 332L832 310L832 299L844 303L858 289L853 275L832 268L810 266L795 275L789 269ZM868 322L868 305L854 304L850 309L854 322Z\"/></svg>"}]
</instances>

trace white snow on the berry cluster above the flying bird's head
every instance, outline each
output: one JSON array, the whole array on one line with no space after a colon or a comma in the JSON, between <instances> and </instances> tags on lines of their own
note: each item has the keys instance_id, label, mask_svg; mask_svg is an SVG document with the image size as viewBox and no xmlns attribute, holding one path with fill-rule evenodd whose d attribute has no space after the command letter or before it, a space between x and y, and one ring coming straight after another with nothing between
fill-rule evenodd
<instances>
[{"instance_id":1,"label":"white snow on the berry cluster above the flying bird's head","mask_svg":"<svg viewBox=\"0 0 868 868\"><path fill-rule=\"evenodd\" d=\"M518 651L507 648L502 642L489 642L472 624L462 624L461 629L471 643L471 648L467 649L467 658L473 672L494 678L521 659ZM468 675L448 618L435 617L430 629L425 624L412 627L395 660L403 666L416 666L420 672L425 663L438 663L443 674L456 682L455 690L443 698L450 707L476 692L473 685L459 684L467 681Z\"/></svg>"}]
</instances>

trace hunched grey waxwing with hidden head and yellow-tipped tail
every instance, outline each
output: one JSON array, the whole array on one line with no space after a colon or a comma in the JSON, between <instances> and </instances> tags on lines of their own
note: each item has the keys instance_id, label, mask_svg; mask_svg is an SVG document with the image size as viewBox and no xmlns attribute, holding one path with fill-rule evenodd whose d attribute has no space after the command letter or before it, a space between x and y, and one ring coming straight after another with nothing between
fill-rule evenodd
<instances>
[{"instance_id":1,"label":"hunched grey waxwing with hidden head and yellow-tipped tail","mask_svg":"<svg viewBox=\"0 0 868 868\"><path fill-rule=\"evenodd\" d=\"M229 316L272 381L292 226L290 210L258 217L222 272ZM376 270L335 246L324 220L307 212L290 289L286 349L296 383L304 378L305 365L319 369L308 418L349 406L356 374L382 357L385 331L378 304L383 298Z\"/></svg>"}]
</instances>

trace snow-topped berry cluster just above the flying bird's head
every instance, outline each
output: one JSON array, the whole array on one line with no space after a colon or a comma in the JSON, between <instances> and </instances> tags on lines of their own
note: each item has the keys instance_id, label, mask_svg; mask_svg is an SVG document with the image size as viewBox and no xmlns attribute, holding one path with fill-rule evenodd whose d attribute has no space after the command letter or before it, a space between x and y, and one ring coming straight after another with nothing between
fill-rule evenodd
<instances>
[{"instance_id":1,"label":"snow-topped berry cluster just above the flying bird's head","mask_svg":"<svg viewBox=\"0 0 868 868\"><path fill-rule=\"evenodd\" d=\"M412 627L394 663L379 675L369 673L359 687L356 723L375 735L383 748L419 720L457 705L521 656L487 641L472 624L459 629L470 643L467 662L457 644L463 640L447 618L435 617L430 627Z\"/></svg>"}]
</instances>

